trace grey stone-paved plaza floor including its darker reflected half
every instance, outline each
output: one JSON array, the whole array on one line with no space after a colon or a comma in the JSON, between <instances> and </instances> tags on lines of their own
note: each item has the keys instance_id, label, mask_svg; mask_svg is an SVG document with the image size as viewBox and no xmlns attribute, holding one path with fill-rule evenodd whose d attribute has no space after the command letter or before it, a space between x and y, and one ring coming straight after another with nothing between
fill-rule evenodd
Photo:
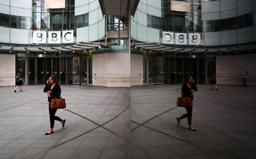
<instances>
[{"instance_id":1,"label":"grey stone-paved plaza floor including its darker reflected half","mask_svg":"<svg viewBox=\"0 0 256 159\"><path fill-rule=\"evenodd\" d=\"M0 87L0 158L255 158L256 87L197 84L192 125L176 117L181 84L60 85L67 107L50 128L44 85Z\"/></svg>"}]
</instances>

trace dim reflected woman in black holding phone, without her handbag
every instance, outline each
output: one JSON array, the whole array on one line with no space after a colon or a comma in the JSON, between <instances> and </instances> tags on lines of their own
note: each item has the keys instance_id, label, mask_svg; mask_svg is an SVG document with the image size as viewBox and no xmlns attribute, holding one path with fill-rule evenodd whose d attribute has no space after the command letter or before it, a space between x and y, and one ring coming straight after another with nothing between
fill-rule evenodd
<instances>
[{"instance_id":1,"label":"dim reflected woman in black holding phone, without her handbag","mask_svg":"<svg viewBox=\"0 0 256 159\"><path fill-rule=\"evenodd\" d=\"M193 95L194 95L194 91L197 91L197 87L191 75L188 75L185 78L185 81L182 84L181 90L182 90L182 97L190 97L191 101L194 99ZM181 119L188 118L188 126L189 126L188 130L196 131L196 129L194 129L191 125L192 107L193 107L193 102L192 102L192 106L185 107L187 114L183 114L180 118L176 118L176 120L177 120L177 124L180 125Z\"/></svg>"}]
</instances>

